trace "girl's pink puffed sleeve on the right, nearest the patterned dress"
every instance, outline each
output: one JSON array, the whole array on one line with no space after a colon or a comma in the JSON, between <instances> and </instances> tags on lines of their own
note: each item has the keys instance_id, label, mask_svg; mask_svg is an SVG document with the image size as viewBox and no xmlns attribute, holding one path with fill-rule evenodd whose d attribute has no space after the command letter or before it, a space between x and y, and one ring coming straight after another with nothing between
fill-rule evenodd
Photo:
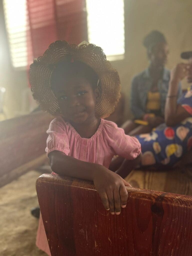
<instances>
[{"instance_id":1,"label":"girl's pink puffed sleeve on the right, nearest the patterned dress","mask_svg":"<svg viewBox=\"0 0 192 256\"><path fill-rule=\"evenodd\" d=\"M115 123L108 125L109 145L114 151L114 155L126 159L135 159L141 153L141 144L135 137L125 135L122 128L117 127Z\"/></svg>"}]
</instances>

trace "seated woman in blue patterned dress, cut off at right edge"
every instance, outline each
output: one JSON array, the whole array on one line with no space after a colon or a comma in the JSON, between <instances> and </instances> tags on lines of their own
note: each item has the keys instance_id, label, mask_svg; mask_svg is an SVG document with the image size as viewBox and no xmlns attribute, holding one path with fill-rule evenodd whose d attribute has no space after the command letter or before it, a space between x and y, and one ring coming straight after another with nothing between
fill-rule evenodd
<instances>
[{"instance_id":1,"label":"seated woman in blue patterned dress, cut off at right edge","mask_svg":"<svg viewBox=\"0 0 192 256\"><path fill-rule=\"evenodd\" d=\"M177 100L178 82L187 77L188 82L192 83L192 51L181 56L188 58L189 63L180 63L171 71L165 123L151 133L135 136L141 144L141 166L173 166L181 159L192 158L192 86ZM110 169L117 170L122 161L120 157L115 158ZM116 173L123 178L129 174L126 169L119 169Z\"/></svg>"}]
</instances>

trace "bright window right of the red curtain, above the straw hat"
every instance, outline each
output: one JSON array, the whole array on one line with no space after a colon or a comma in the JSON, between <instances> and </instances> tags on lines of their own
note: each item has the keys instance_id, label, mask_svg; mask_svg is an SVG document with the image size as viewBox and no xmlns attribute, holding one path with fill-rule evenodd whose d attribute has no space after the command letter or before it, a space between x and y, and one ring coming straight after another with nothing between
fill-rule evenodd
<instances>
[{"instance_id":1,"label":"bright window right of the red curtain, above the straw hat","mask_svg":"<svg viewBox=\"0 0 192 256\"><path fill-rule=\"evenodd\" d=\"M124 1L86 0L88 41L103 48L107 59L123 59Z\"/></svg>"}]
</instances>

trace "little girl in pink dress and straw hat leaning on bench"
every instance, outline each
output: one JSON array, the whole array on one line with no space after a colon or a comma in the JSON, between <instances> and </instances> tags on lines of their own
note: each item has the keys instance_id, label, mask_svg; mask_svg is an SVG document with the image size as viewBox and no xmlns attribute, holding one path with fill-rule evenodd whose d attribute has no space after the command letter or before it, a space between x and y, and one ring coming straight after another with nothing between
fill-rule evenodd
<instances>
[{"instance_id":1,"label":"little girl in pink dress and straw hat leaning on bench","mask_svg":"<svg viewBox=\"0 0 192 256\"><path fill-rule=\"evenodd\" d=\"M30 81L41 108L56 116L46 147L53 173L93 180L105 209L119 215L126 207L129 183L108 168L114 155L126 159L120 168L128 168L141 147L136 138L103 119L119 100L118 72L100 47L56 41L30 66ZM51 255L41 218L37 246Z\"/></svg>"}]
</instances>

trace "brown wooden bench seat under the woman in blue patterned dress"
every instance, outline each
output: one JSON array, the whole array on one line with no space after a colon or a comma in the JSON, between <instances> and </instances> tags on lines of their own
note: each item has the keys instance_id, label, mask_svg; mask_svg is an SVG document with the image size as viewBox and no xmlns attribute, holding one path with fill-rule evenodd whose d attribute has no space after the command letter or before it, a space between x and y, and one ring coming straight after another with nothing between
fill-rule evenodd
<instances>
[{"instance_id":1,"label":"brown wooden bench seat under the woman in blue patterned dress","mask_svg":"<svg viewBox=\"0 0 192 256\"><path fill-rule=\"evenodd\" d=\"M134 188L158 190L192 196L192 167L165 171L155 169L133 170L126 178Z\"/></svg>"}]
</instances>

